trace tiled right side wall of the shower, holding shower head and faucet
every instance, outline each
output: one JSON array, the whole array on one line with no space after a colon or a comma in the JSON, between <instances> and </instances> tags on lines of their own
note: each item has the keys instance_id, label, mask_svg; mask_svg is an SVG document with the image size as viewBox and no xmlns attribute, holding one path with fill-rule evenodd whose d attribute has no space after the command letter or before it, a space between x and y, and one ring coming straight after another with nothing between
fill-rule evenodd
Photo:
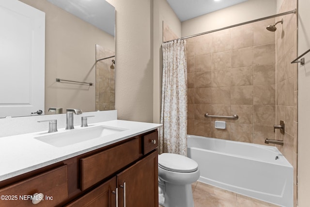
<instances>
[{"instance_id":1,"label":"tiled right side wall of the shower, holding shower head and faucet","mask_svg":"<svg viewBox=\"0 0 310 207\"><path fill-rule=\"evenodd\" d=\"M297 8L297 0L283 0L278 5L278 13ZM279 130L276 139L283 140L284 145L277 145L285 158L294 166L294 207L297 206L297 64L291 62L297 57L297 15L283 18L283 24L277 24L277 124L285 121L285 134Z\"/></svg>"}]
</instances>

